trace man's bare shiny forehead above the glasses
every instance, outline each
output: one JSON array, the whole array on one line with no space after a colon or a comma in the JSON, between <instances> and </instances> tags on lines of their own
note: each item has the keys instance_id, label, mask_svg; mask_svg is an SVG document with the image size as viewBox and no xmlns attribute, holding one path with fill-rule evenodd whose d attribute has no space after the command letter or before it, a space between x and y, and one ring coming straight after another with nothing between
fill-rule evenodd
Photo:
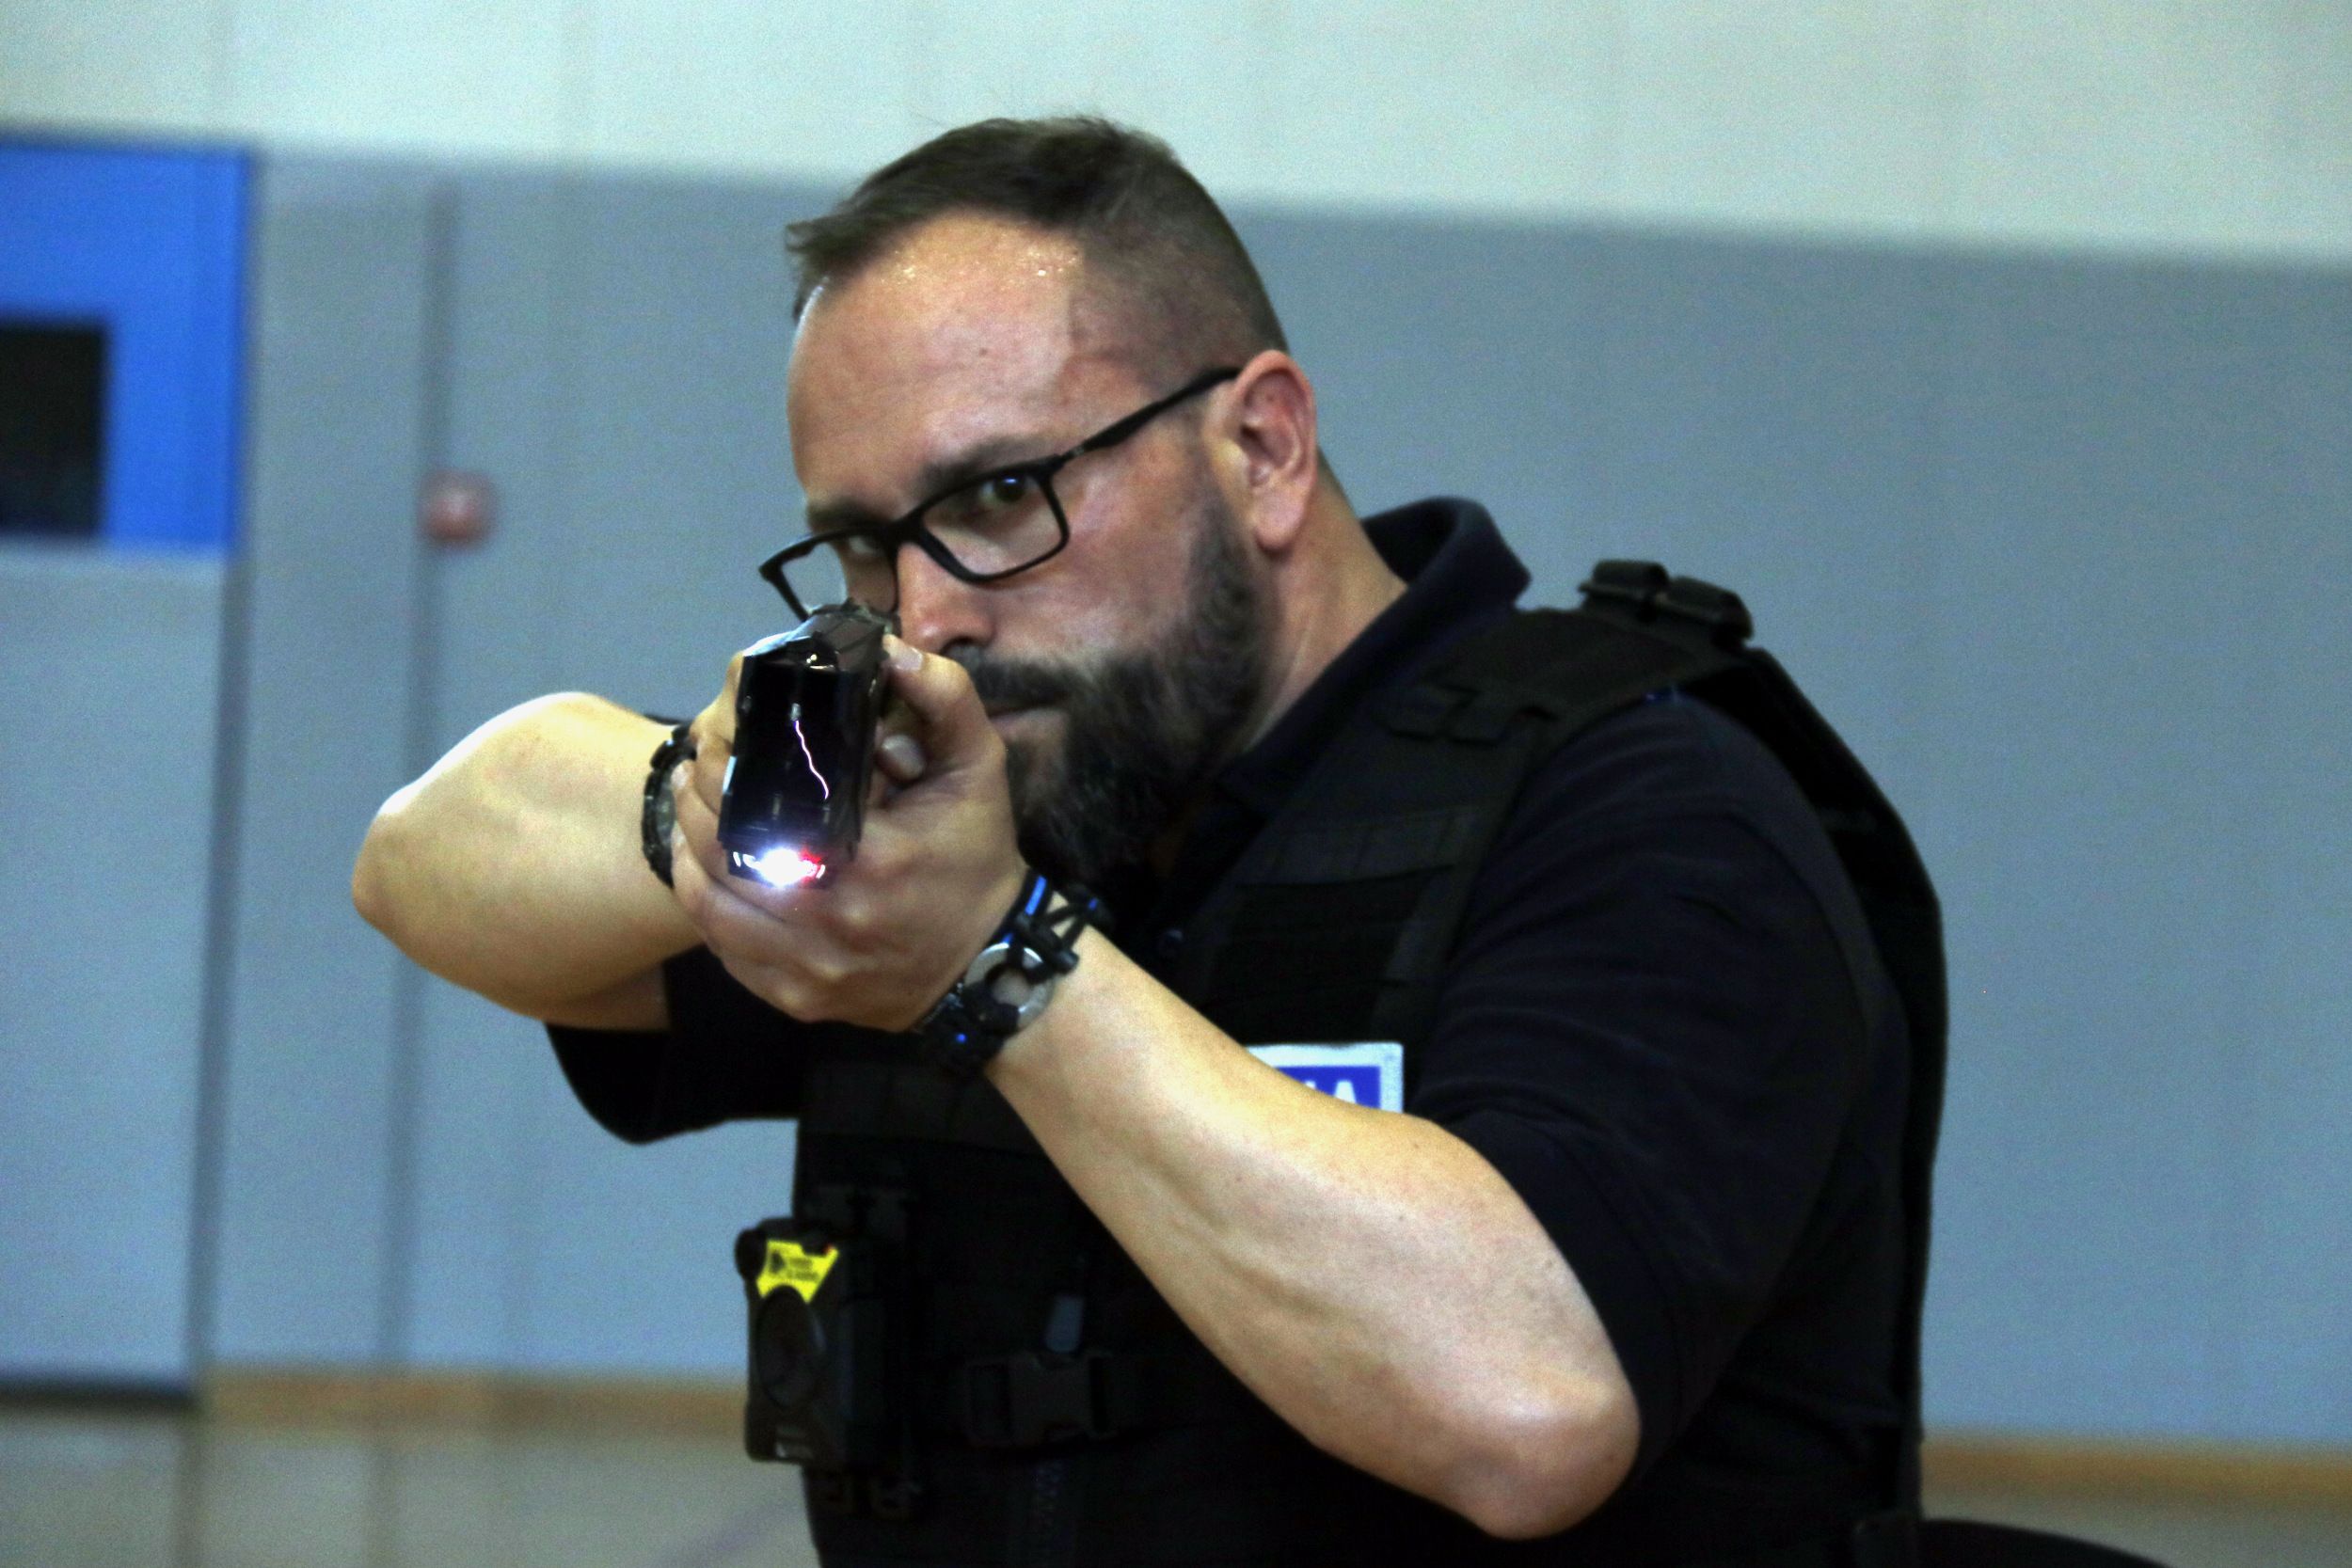
<instances>
[{"instance_id":1,"label":"man's bare shiny forehead above the glasses","mask_svg":"<svg viewBox=\"0 0 2352 1568\"><path fill-rule=\"evenodd\" d=\"M889 484L993 440L1054 433L1124 343L1065 235L953 214L826 284L788 378L793 461L811 501L847 475Z\"/></svg>"}]
</instances>

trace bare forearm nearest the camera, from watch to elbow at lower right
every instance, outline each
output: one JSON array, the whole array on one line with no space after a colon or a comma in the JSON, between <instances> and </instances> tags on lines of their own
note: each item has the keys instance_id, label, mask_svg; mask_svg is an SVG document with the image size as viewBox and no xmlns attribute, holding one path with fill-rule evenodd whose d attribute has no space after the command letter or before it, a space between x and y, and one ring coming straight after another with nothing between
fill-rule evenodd
<instances>
[{"instance_id":1,"label":"bare forearm nearest the camera, from watch to elbow at lower right","mask_svg":"<svg viewBox=\"0 0 2352 1568\"><path fill-rule=\"evenodd\" d=\"M1639 1422L1550 1237L1475 1150L1263 1067L1098 936L993 1079L1225 1366L1486 1530L1597 1507Z\"/></svg>"}]
</instances>

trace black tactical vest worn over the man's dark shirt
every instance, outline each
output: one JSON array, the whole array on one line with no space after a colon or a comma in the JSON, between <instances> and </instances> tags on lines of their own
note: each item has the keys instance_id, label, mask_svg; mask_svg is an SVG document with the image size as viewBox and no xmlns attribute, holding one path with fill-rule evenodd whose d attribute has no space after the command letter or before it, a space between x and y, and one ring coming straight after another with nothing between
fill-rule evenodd
<instances>
[{"instance_id":1,"label":"black tactical vest worn over the man's dark shirt","mask_svg":"<svg viewBox=\"0 0 2352 1568\"><path fill-rule=\"evenodd\" d=\"M1592 722L1679 686L1755 731L1818 809L1910 1025L1910 1410L1884 1500L1917 1509L1917 1326L1943 1093L1938 910L1896 813L1736 595L1604 562L1578 611L1524 611L1367 705L1188 924L1162 978L1242 1044L1402 1041L1406 1093L1472 879L1519 785ZM889 1037L811 1063L795 1213L903 1251L889 1333L901 1490L811 1476L840 1561L1456 1563L1498 1552L1329 1460L1249 1396L1108 1239L985 1081ZM884 1497L877 1507L877 1495ZM906 1516L898 1516L906 1514ZM1548 1561L1581 1561L1559 1556ZM1597 1559L1599 1561L1599 1559Z\"/></svg>"}]
</instances>

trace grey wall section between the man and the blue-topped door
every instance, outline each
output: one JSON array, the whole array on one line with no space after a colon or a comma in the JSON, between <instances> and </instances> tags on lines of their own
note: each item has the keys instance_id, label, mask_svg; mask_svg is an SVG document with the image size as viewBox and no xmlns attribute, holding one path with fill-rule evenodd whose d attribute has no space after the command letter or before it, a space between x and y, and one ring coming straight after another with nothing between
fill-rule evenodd
<instances>
[{"instance_id":1,"label":"grey wall section between the man and the blue-topped door","mask_svg":"<svg viewBox=\"0 0 2352 1568\"><path fill-rule=\"evenodd\" d=\"M708 1371L790 1128L635 1152L539 1030L355 914L374 806L555 686L699 708L774 621L790 503L776 197L273 160L261 186L252 715L212 1349ZM477 468L492 543L426 552Z\"/></svg>"}]
</instances>

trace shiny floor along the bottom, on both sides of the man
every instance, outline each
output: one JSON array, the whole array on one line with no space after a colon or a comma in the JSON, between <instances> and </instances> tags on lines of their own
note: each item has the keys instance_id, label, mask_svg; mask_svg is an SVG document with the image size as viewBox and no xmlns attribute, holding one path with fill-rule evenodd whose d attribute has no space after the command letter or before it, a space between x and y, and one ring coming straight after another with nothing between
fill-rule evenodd
<instances>
[{"instance_id":1,"label":"shiny floor along the bottom, on both sides of the man","mask_svg":"<svg viewBox=\"0 0 2352 1568\"><path fill-rule=\"evenodd\" d=\"M609 1427L609 1422L604 1422ZM2352 1507L1945 1483L1931 1512L2089 1535L2173 1568L2352 1568ZM5 1568L800 1568L793 1474L724 1436L263 1422L0 1406Z\"/></svg>"}]
</instances>

